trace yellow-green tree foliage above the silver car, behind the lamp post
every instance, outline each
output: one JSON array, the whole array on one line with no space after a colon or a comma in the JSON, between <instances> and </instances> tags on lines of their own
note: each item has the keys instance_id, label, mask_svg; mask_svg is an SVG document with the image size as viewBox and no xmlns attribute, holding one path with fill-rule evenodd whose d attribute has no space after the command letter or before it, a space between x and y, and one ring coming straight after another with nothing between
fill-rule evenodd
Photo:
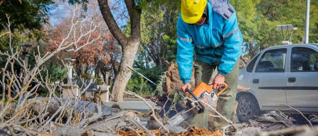
<instances>
[{"instance_id":1,"label":"yellow-green tree foliage above the silver car, behind the lamp post","mask_svg":"<svg viewBox=\"0 0 318 136\"><path fill-rule=\"evenodd\" d=\"M248 56L252 57L266 47L281 45L283 37L277 25L298 27L291 41L304 42L306 0L232 0L231 4L237 11ZM311 3L309 42L316 42L318 37L317 6L317 2Z\"/></svg>"}]
</instances>

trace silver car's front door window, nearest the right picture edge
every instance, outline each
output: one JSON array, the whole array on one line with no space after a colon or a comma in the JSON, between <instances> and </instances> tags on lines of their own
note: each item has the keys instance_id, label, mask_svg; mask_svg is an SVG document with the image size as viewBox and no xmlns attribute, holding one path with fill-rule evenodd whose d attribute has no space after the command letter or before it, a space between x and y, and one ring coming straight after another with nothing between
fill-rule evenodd
<instances>
[{"instance_id":1,"label":"silver car's front door window, nearest the right picture edge","mask_svg":"<svg viewBox=\"0 0 318 136\"><path fill-rule=\"evenodd\" d=\"M290 65L291 72L318 71L318 53L310 48L294 47Z\"/></svg>"}]
</instances>

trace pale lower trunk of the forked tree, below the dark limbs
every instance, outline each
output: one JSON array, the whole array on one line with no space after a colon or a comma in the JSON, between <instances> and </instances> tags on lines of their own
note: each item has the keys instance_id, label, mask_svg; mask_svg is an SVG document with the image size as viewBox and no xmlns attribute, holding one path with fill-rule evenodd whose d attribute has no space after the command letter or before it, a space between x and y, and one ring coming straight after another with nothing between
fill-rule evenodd
<instances>
[{"instance_id":1,"label":"pale lower trunk of the forked tree, below the dark limbs","mask_svg":"<svg viewBox=\"0 0 318 136\"><path fill-rule=\"evenodd\" d=\"M112 87L112 100L123 101L123 91L131 77L131 70L126 64L133 65L138 47L139 42L123 48L119 70Z\"/></svg>"}]
</instances>

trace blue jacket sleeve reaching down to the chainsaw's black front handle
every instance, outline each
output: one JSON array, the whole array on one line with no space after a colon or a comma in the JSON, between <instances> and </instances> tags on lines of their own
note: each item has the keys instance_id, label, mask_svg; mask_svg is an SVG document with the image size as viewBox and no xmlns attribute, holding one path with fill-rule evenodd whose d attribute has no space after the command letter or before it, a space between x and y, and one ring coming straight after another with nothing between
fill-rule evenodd
<instances>
[{"instance_id":1,"label":"blue jacket sleeve reaching down to the chainsaw's black front handle","mask_svg":"<svg viewBox=\"0 0 318 136\"><path fill-rule=\"evenodd\" d=\"M186 30L181 16L177 22L177 63L179 76L183 83L190 83L192 77L193 49L192 38Z\"/></svg>"}]
</instances>

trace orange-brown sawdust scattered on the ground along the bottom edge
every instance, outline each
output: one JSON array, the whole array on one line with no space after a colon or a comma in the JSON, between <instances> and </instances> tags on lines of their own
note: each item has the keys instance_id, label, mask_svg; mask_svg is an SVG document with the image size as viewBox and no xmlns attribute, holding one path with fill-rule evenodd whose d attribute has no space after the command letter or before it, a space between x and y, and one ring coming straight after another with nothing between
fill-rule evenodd
<instances>
[{"instance_id":1,"label":"orange-brown sawdust scattered on the ground along the bottom edge","mask_svg":"<svg viewBox=\"0 0 318 136\"><path fill-rule=\"evenodd\" d=\"M161 134L159 130L150 130L152 133L154 133L156 136L164 136L164 134ZM146 133L142 132L141 130L137 131L141 136L146 136ZM117 131L117 134L123 135L123 136L138 136L136 132L134 131ZM168 136L198 136L198 135L205 135L205 136L222 136L223 133L221 130L214 130L209 131L207 129L201 129L197 127L191 128L191 130L183 132L183 133L169 133Z\"/></svg>"}]
</instances>

